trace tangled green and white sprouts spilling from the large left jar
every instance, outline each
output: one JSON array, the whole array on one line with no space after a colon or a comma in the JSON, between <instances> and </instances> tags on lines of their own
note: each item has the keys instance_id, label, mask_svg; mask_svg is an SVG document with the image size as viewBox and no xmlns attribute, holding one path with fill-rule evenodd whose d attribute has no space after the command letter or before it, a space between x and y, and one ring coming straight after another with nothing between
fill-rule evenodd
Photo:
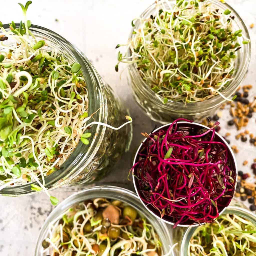
<instances>
[{"instance_id":1,"label":"tangled green and white sprouts spilling from the large left jar","mask_svg":"<svg viewBox=\"0 0 256 256\"><path fill-rule=\"evenodd\" d=\"M71 62L52 42L38 40L26 19L10 24L0 36L0 191L7 186L31 184L45 190L44 177L60 168L81 140L88 145L88 90L79 63ZM9 38L9 40L7 40ZM47 48L46 48L47 47ZM51 51L49 50L51 49Z\"/></svg>"}]
</instances>

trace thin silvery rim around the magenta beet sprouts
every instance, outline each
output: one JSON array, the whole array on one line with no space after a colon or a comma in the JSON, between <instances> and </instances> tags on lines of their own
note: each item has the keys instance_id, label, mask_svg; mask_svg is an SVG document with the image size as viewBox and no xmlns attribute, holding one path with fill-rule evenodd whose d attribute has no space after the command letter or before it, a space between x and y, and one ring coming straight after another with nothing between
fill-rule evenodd
<instances>
[{"instance_id":1,"label":"thin silvery rim around the magenta beet sprouts","mask_svg":"<svg viewBox=\"0 0 256 256\"><path fill-rule=\"evenodd\" d=\"M171 124L171 123L162 125L162 126L160 126L159 128L155 129L155 130L154 130L153 132L151 132L151 133L154 133L154 132L156 132L156 131L158 131L158 130L164 129L164 128L170 126L170 124ZM194 122L191 122L191 123L190 123L190 122L186 122L186 121L179 121L179 122L177 122L177 125L180 125L180 124L184 124L184 125L186 125L186 127L189 127L190 125L191 125L191 126L193 125L193 126L198 126L198 127L201 127L201 128L205 128L205 129L207 129L207 130L210 129L209 127L207 127L207 126L205 126L205 125L202 125L202 124L199 124L199 123L194 123ZM236 157L235 157L235 155L234 155L234 153L233 153L231 147L230 147L229 144L226 142L226 140L225 140L221 135L219 135L217 132L215 132L215 135L217 136L217 139L218 139L218 140L220 140L222 143L224 143L224 144L227 146L228 151L229 151L229 152L228 152L228 153L229 153L229 156L232 157L232 159L231 159L231 162L232 162L231 165L232 165L232 167L233 167L233 169L234 169L234 173L235 173L235 177L236 177L236 183L235 183L235 186L234 186L234 189L233 189L233 195L234 195L234 191L236 190L236 186L237 186L237 176L238 176L238 175L237 175L238 169L237 169ZM139 147L138 147L138 149L137 149L137 151L136 151L136 153L135 153L134 160L133 160L133 165L132 165L132 166L134 166L134 165L136 164L136 162L137 162L137 156L138 156L138 154L139 154L139 152L140 152L140 149L141 149L141 147L143 146L143 143L144 143L147 139L148 139L148 138L145 138L145 139L141 142L141 144L139 145ZM137 188L137 184L136 184L136 180L135 180L135 176L134 176L134 175L132 175L132 180L133 180L133 186L134 186L134 189L135 189L135 191L136 191L136 194L137 194L138 198L140 199L141 203L144 205L144 207L145 207L152 215L154 215L157 219L161 219L162 221L164 221L164 222L167 223L167 224L175 225L175 222L166 220L166 219L164 219L164 217L163 217L163 218L159 217L159 216L156 214L156 212L153 211L153 209L150 209L150 208L145 204L145 202L141 199L141 197L140 197L140 195L139 195L139 193L138 193L138 188ZM222 212L225 211L226 208L227 208L227 206L224 207L224 208L219 212L219 215L221 215ZM194 223L194 224L178 224L177 227L198 227L198 226L200 226L200 225L202 225L202 224L204 224L204 223L200 223L200 224L198 224L198 223Z\"/></svg>"}]
</instances>

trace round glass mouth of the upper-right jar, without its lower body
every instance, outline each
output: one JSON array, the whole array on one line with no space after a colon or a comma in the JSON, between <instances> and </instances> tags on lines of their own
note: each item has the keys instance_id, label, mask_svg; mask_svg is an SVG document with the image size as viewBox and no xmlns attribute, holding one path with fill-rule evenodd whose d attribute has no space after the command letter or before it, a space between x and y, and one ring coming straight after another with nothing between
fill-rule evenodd
<instances>
[{"instance_id":1,"label":"round glass mouth of the upper-right jar, without its lower body","mask_svg":"<svg viewBox=\"0 0 256 256\"><path fill-rule=\"evenodd\" d=\"M169 0L169 2L173 2L176 3L176 1L174 0ZM226 10L229 9L231 10L231 13L233 14L233 16L235 17L233 22L235 23L235 30L239 30L242 29L242 34L248 38L250 40L250 35L248 32L248 29L246 27L246 25L244 24L243 20L241 19L241 17L239 16L239 14L227 3L222 3L218 0L210 0L211 3L215 4L219 9L221 10ZM153 10L156 7L156 3L153 3L152 5L150 5L141 15L141 18L148 18ZM139 28L139 22L136 20L136 22L134 22L134 28ZM133 38L135 35L133 34L133 29L131 30L131 33L129 35L129 38ZM233 77L233 80L230 81L229 85L223 90L221 91L221 93L226 97L229 98L231 97L231 95L233 95L235 93L235 91L237 90L237 88L239 87L240 83L242 82L243 78L245 77L246 73L247 73L247 69L249 66L249 62L250 62L250 58L251 58L251 43L249 44L242 44L242 39L239 37L238 41L241 45L241 49L239 51L237 51L237 59L235 62L235 66L237 71L235 72L235 75ZM127 51L127 55L128 57L131 57L131 52L128 49ZM155 100L157 104L159 105L163 105L163 101L164 101L164 97L160 96L160 95L156 95L156 93L150 88L148 87L147 83L141 78L140 73L137 70L137 66L136 63L132 63L129 66L129 70L131 72L131 75L133 77L136 77L139 81L139 83L141 83L141 90L147 95L147 97L151 97L152 100ZM173 100L169 100L164 104L164 106L166 108L170 108L170 107L175 107L178 108L179 110L183 110L186 111L189 109L193 111L194 108L196 108L196 110L204 110L206 108L206 105L208 107L215 107L216 105L222 104L224 103L226 100L224 98L222 98L219 94L212 96L210 99L201 101L201 102L190 102L190 103L183 103L183 102L176 102Z\"/></svg>"}]
</instances>

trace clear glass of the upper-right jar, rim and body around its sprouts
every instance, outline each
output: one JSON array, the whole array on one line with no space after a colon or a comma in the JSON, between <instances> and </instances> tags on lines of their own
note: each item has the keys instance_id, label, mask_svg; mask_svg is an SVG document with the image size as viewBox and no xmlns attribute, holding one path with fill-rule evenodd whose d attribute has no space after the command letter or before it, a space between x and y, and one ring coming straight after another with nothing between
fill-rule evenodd
<instances>
[{"instance_id":1,"label":"clear glass of the upper-right jar, rim and body around its sprouts","mask_svg":"<svg viewBox=\"0 0 256 256\"><path fill-rule=\"evenodd\" d=\"M169 0L171 4L175 4L176 0ZM243 20L237 14L237 12L229 6L227 3L222 3L219 0L210 0L214 5L217 6L219 10L225 11L226 9L231 10L231 14L235 17L233 20L234 31L241 29L242 33L248 39L250 38L246 25ZM166 3L163 3L167 5ZM156 8L156 3L149 6L142 14L142 19L147 19L151 14L154 13ZM133 29L139 29L140 23L138 21L134 22ZM133 29L129 38L134 38L135 35L132 34ZM234 79L230 82L229 86L222 92L222 94L229 98L239 87L242 79L246 75L247 68L251 56L251 44L242 44L242 38L238 37L238 42L241 45L241 49L236 52L237 60L234 69ZM131 51L128 49L128 57L131 56ZM163 103L163 98L161 96L156 97L156 94L148 84L142 80L135 63L129 65L128 67L128 80L132 87L133 96L142 108L142 110L154 121L160 123L169 123L177 118L187 118L190 120L199 120L206 116L214 114L221 104L226 102L220 95L215 95L209 100L196 103L187 103L186 105L181 102L175 102L168 100L166 104Z\"/></svg>"}]
</instances>

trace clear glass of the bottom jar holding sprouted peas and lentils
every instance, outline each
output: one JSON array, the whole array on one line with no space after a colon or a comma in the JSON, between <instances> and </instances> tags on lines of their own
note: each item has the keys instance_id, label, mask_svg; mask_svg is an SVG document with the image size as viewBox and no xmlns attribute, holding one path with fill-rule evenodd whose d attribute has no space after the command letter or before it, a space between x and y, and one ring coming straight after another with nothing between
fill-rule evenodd
<instances>
[{"instance_id":1,"label":"clear glass of the bottom jar holding sprouted peas and lentils","mask_svg":"<svg viewBox=\"0 0 256 256\"><path fill-rule=\"evenodd\" d=\"M71 195L64 201L62 201L47 217L44 225L42 226L36 244L35 256L45 256L45 254L41 253L42 249L42 241L48 237L48 226L52 221L57 221L57 217L61 215L62 212L65 212L67 209L72 207L75 204L78 204L81 201L104 197L110 198L114 200L120 200L125 202L126 204L131 205L133 208L137 210L137 212L145 217L154 227L156 233L159 236L159 239L163 246L163 253L167 254L170 251L170 246L172 245L172 241L170 240L169 231L167 226L161 220L157 220L154 218L145 208L142 206L140 200L130 190L115 187L115 186L97 186L88 189L84 189L76 194ZM50 252L47 252L50 254ZM161 255L159 255L161 256Z\"/></svg>"}]
</instances>

